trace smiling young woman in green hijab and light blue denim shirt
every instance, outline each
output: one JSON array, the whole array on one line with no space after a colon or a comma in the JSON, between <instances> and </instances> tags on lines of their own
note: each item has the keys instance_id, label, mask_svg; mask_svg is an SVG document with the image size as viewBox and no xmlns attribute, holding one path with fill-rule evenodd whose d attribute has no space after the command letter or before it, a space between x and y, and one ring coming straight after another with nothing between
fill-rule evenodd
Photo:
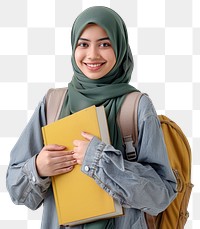
<instances>
[{"instance_id":1,"label":"smiling young woman in green hijab and light blue denim shirt","mask_svg":"<svg viewBox=\"0 0 200 229\"><path fill-rule=\"evenodd\" d=\"M170 204L176 196L176 180L147 96L142 96L138 107L137 158L128 161L125 157L116 116L126 95L137 91L129 84L133 58L126 26L110 8L91 7L75 20L71 42L74 76L60 118L91 105L104 105L112 145L82 133L85 141L74 139L73 152L63 146L44 146L44 98L11 152L8 191L16 204L31 209L43 204L42 229L65 228L58 225L50 176L68 173L78 163L85 174L101 181L102 188L106 184L106 191L124 207L124 215L73 228L145 229L144 213L157 215Z\"/></svg>"}]
</instances>

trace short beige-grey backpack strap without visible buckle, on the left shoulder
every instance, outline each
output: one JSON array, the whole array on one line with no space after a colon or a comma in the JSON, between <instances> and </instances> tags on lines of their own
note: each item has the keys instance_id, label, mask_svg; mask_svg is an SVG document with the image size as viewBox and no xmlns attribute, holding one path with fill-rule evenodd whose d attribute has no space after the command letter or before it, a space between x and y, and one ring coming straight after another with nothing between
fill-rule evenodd
<instances>
[{"instance_id":1,"label":"short beige-grey backpack strap without visible buckle, on the left shoulder","mask_svg":"<svg viewBox=\"0 0 200 229\"><path fill-rule=\"evenodd\" d=\"M51 88L46 94L46 119L47 124L59 118L67 88Z\"/></svg>"}]
</instances>

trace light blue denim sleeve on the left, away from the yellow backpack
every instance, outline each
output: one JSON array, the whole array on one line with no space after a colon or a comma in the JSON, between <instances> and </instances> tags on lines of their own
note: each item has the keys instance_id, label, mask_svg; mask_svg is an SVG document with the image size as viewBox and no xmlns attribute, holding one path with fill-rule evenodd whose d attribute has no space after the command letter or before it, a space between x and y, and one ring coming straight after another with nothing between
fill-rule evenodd
<instances>
[{"instance_id":1,"label":"light blue denim sleeve on the left, away from the yellow backpack","mask_svg":"<svg viewBox=\"0 0 200 229\"><path fill-rule=\"evenodd\" d=\"M49 177L39 177L35 159L43 148L41 127L46 125L44 100L36 108L32 118L11 151L6 185L11 199L37 209L43 202L51 184Z\"/></svg>"}]
</instances>

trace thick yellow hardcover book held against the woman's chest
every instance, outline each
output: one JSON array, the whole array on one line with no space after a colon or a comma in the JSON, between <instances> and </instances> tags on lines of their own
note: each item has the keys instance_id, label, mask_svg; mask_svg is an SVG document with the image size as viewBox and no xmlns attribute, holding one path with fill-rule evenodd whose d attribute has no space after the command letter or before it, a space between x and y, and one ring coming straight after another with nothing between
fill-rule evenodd
<instances>
[{"instance_id":1,"label":"thick yellow hardcover book held against the woman's chest","mask_svg":"<svg viewBox=\"0 0 200 229\"><path fill-rule=\"evenodd\" d=\"M82 140L85 131L110 143L104 107L91 106L42 128L44 144L73 149L73 140ZM77 225L123 214L122 207L96 182L81 171L81 166L52 177L60 225Z\"/></svg>"}]
</instances>

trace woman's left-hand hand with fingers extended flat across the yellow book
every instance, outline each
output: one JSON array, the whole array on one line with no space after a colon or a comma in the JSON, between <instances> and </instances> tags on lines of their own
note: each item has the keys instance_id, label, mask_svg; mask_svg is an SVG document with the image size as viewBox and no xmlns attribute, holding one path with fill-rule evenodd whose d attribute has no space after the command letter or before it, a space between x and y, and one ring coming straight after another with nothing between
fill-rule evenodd
<instances>
[{"instance_id":1,"label":"woman's left-hand hand with fingers extended flat across the yellow book","mask_svg":"<svg viewBox=\"0 0 200 229\"><path fill-rule=\"evenodd\" d=\"M39 176L55 176L70 172L77 164L71 151L65 146L47 145L43 147L36 158L36 168Z\"/></svg>"}]
</instances>

